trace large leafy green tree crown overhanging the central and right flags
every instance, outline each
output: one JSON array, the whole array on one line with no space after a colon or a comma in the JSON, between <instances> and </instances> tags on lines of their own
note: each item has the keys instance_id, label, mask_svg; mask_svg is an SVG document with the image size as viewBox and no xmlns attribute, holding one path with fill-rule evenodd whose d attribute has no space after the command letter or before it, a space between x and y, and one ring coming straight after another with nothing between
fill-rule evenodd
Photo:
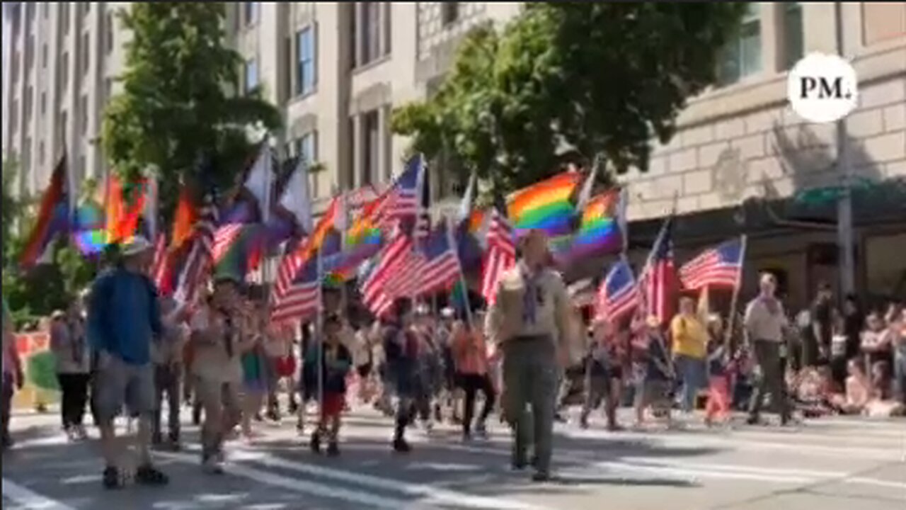
<instances>
[{"instance_id":1,"label":"large leafy green tree crown overhanging the central and right flags","mask_svg":"<svg viewBox=\"0 0 906 510\"><path fill-rule=\"evenodd\" d=\"M689 97L716 79L746 5L530 3L467 35L439 91L394 112L410 149L447 152L504 191L557 171L564 148L646 170Z\"/></svg>"}]
</instances>

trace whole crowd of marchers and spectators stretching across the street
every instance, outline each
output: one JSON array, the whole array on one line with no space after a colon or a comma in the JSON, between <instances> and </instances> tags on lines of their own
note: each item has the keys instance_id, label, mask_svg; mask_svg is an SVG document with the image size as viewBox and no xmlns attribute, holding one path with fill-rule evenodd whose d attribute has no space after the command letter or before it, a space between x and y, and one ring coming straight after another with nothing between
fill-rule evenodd
<instances>
[{"instance_id":1,"label":"whole crowd of marchers and spectators stretching across the street","mask_svg":"<svg viewBox=\"0 0 906 510\"><path fill-rule=\"evenodd\" d=\"M125 411L139 437L135 480L163 485L168 477L150 451L180 447L181 407L195 408L201 464L212 474L223 473L227 438L254 441L257 421L280 419L281 392L300 434L313 426L312 450L336 456L356 380L355 399L394 417L390 446L399 453L410 451L407 430L417 422L429 428L446 417L461 427L464 441L485 436L500 403L501 420L513 430L514 468L534 466L535 480L544 481L554 421L564 419L576 393L579 426L589 427L592 412L603 407L611 430L622 428L616 411L624 404L635 409L634 427L649 427L652 419L678 427L674 409L690 413L702 396L709 427L727 423L734 408L757 424L767 400L781 424L831 413L903 412L902 303L863 314L847 297L838 310L822 285L814 305L793 318L776 296L776 278L766 273L739 321L741 334L727 334L720 315L699 313L691 296L679 299L679 313L667 324L645 313L611 322L573 304L559 274L545 267L546 242L544 235L521 241L522 259L501 279L487 315L399 299L390 319L359 320L345 313L339 290L325 289L317 328L275 329L263 289L229 278L215 278L192 307L159 299L146 276L150 243L136 237L82 301L53 314L62 427L72 441L85 439L83 417L91 410L101 431L103 483L120 487L124 450L114 418ZM4 302L5 447L12 444L10 401L24 380L13 331ZM311 405L318 418L307 424Z\"/></svg>"}]
</instances>

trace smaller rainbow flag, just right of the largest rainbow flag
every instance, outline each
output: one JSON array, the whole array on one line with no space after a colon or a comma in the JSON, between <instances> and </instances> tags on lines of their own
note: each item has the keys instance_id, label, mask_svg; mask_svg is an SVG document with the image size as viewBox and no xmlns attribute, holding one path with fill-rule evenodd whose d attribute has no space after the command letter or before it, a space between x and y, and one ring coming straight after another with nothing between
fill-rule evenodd
<instances>
[{"instance_id":1,"label":"smaller rainbow flag, just right of the largest rainbow flag","mask_svg":"<svg viewBox=\"0 0 906 510\"><path fill-rule=\"evenodd\" d=\"M610 190L588 201L582 212L579 229L573 235L570 248L573 258L622 249L620 200L620 190Z\"/></svg>"}]
</instances>

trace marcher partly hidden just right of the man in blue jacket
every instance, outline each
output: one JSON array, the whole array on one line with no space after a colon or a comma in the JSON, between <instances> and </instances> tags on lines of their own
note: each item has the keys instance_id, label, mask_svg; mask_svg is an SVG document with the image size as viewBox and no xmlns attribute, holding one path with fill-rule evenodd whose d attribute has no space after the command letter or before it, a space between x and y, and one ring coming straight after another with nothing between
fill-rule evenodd
<instances>
[{"instance_id":1,"label":"marcher partly hidden just right of the man in blue jacket","mask_svg":"<svg viewBox=\"0 0 906 510\"><path fill-rule=\"evenodd\" d=\"M188 341L188 326L185 324L184 309L178 308L174 299L162 299L160 311L163 315L164 334L160 342L151 349L154 360L154 384L156 388L154 421L152 423L151 443L163 446L161 421L163 413L161 404L167 394L167 438L168 446L178 450L179 446L179 406L181 405L183 379L182 354Z\"/></svg>"}]
</instances>

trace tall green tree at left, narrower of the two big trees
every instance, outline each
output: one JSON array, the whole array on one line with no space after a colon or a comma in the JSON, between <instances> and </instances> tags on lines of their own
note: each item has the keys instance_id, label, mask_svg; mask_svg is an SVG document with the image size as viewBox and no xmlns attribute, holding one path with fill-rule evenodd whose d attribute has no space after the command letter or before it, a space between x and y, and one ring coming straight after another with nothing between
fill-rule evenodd
<instances>
[{"instance_id":1,"label":"tall green tree at left, narrower of the two big trees","mask_svg":"<svg viewBox=\"0 0 906 510\"><path fill-rule=\"evenodd\" d=\"M232 92L243 61L225 45L224 3L137 2L120 22L132 40L123 92L104 113L103 147L127 181L158 172L166 221L180 182L198 182L199 156L209 158L215 184L226 189L254 150L249 132L275 130L281 118L260 88Z\"/></svg>"}]
</instances>

